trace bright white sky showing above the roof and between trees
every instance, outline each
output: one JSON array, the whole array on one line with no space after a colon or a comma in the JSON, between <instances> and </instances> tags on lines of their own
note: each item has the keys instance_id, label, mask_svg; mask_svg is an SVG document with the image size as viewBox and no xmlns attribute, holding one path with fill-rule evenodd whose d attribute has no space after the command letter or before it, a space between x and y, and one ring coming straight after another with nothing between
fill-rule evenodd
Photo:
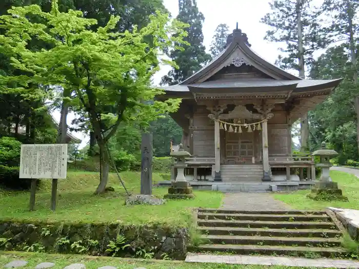
<instances>
[{"instance_id":1,"label":"bright white sky showing above the roof and between trees","mask_svg":"<svg viewBox=\"0 0 359 269\"><path fill-rule=\"evenodd\" d=\"M204 14L205 22L203 24L204 45L207 52L218 24L227 24L230 32L235 29L238 22L238 28L247 34L252 49L263 58L274 64L278 54L280 43L269 43L264 40L266 31L270 28L260 23L261 18L268 12L270 7L268 2L271 0L197 0L198 9ZM318 0L317 0L318 1ZM316 2L316 1L315 1ZM178 0L164 0L166 8L170 11L172 17L178 14ZM167 74L169 67L162 67L161 71L153 77L155 85L159 84L161 77ZM295 75L295 72L293 73ZM59 112L55 112L54 117L59 120ZM73 113L68 116L68 124L74 118ZM88 136L82 133L73 133L76 137L82 139L80 148L86 146Z\"/></svg>"}]
</instances>

